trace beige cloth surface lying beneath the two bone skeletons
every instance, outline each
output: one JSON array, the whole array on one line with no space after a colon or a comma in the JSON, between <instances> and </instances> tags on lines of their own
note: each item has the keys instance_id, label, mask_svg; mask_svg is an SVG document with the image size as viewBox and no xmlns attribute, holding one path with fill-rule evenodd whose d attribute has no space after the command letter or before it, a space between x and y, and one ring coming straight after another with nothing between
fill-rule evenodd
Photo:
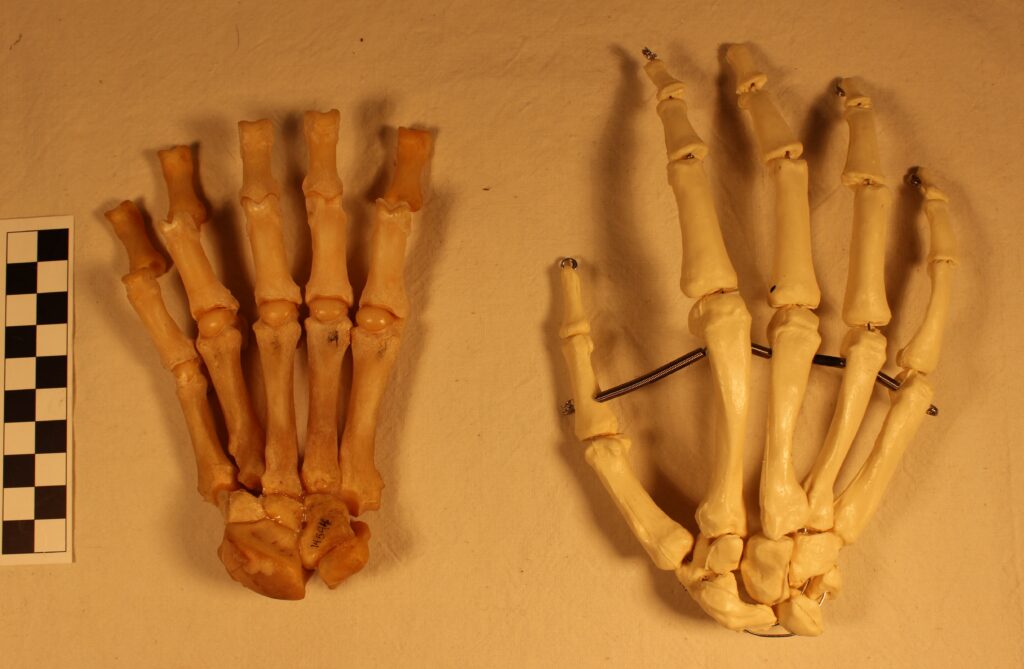
<instances>
[{"instance_id":1,"label":"beige cloth surface lying beneath the two bone skeletons","mask_svg":"<svg viewBox=\"0 0 1024 669\"><path fill-rule=\"evenodd\" d=\"M77 225L77 522L73 565L0 570L0 664L1020 666L1022 14L1010 1L3 3L0 217L70 213ZM845 332L852 215L835 77L868 82L896 184L890 371L928 296L927 227L898 181L908 166L945 185L961 240L933 375L941 415L843 552L845 592L813 640L712 623L649 563L557 413L569 393L556 340L562 255L581 260L605 386L697 345L644 45L689 87L754 340L765 340L771 193L721 77L721 45L735 41L755 45L807 148L823 351ZM163 215L155 152L197 142L215 209L207 247L251 316L234 124L269 117L283 132L276 168L302 283L300 114L332 107L356 286L395 126L436 129L436 152L410 246L414 313L377 440L387 488L369 517L371 563L336 591L313 580L305 600L281 602L238 586L216 558L221 521L195 491L173 382L124 299L126 262L101 212L139 198ZM163 285L183 323L176 282L172 271ZM752 499L766 372L755 361ZM839 378L813 372L801 472ZM708 382L695 367L617 403L640 476L691 530L709 473ZM885 405L879 392L868 431Z\"/></svg>"}]
</instances>

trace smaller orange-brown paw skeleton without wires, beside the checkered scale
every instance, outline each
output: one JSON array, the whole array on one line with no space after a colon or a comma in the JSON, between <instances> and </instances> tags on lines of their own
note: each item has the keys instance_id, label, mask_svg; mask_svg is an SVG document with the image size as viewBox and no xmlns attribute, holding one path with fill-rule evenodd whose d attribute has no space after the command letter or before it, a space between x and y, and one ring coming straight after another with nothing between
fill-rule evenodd
<instances>
[{"instance_id":1,"label":"smaller orange-brown paw skeleton without wires, beside the checkered scale","mask_svg":"<svg viewBox=\"0 0 1024 669\"><path fill-rule=\"evenodd\" d=\"M157 279L168 267L139 210L126 201L105 214L128 252L130 270L122 279L128 299L163 366L174 374L196 455L199 492L224 515L220 559L244 586L284 599L302 598L311 570L333 588L369 558L370 529L354 518L380 507L383 482L374 466L374 435L409 313L402 279L406 241L412 214L422 205L421 173L431 151L429 133L398 130L394 176L376 202L370 273L353 328L336 162L339 119L337 110L306 112L304 117L309 168L302 191L312 240L304 296L286 259L281 189L270 173L273 128L266 120L239 124L241 204L256 268L258 320L253 332L266 392L265 427L243 374L247 327L238 313L239 302L217 280L200 243L207 212L194 186L189 149L160 152L170 210L157 227L188 295L199 329L195 343L164 305ZM300 466L293 367L303 303L308 307L309 417ZM339 449L339 392L349 341L352 386ZM203 366L223 413L230 457L221 448Z\"/></svg>"}]
</instances>

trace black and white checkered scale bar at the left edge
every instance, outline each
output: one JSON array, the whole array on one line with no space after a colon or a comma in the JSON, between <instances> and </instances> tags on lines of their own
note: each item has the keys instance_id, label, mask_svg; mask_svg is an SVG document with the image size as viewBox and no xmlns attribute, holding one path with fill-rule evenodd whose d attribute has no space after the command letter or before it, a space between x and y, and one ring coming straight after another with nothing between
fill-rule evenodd
<instances>
[{"instance_id":1,"label":"black and white checkered scale bar at the left edge","mask_svg":"<svg viewBox=\"0 0 1024 669\"><path fill-rule=\"evenodd\" d=\"M0 221L0 566L72 561L74 219Z\"/></svg>"}]
</instances>

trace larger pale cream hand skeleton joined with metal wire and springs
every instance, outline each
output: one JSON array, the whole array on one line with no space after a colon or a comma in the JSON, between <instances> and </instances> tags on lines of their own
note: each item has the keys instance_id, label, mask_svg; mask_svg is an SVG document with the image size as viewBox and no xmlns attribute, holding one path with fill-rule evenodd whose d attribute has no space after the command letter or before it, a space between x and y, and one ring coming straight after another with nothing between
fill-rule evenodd
<instances>
[{"instance_id":1,"label":"larger pale cream hand skeleton joined with metal wire and springs","mask_svg":"<svg viewBox=\"0 0 1024 669\"><path fill-rule=\"evenodd\" d=\"M925 172L911 170L908 181L919 189L931 225L932 295L924 323L897 356L902 371L893 382L881 373L887 342L879 331L891 316L884 265L892 196L880 167L870 97L861 80L842 80L837 92L850 131L842 180L853 191L853 235L843 306L843 320L850 329L841 348L845 371L833 421L801 484L793 465L794 432L821 343L813 311L820 291L811 263L807 163L800 159L803 145L766 91L767 77L756 67L749 48L733 45L728 49L739 107L749 112L760 157L774 184L777 224L768 294L774 309L767 332L771 349L754 346L759 354L771 357L771 368L761 527L750 534L742 452L750 406L751 316L719 228L703 169L708 147L687 119L684 86L652 52L645 49L644 55L648 58L644 70L657 89L669 183L679 207L681 287L696 300L689 327L706 344L690 356L692 360L680 359L683 363L678 367L706 354L714 384L713 474L696 511L699 534L695 540L657 507L630 467L630 442L620 432L614 414L601 404L605 398L599 393L591 365L593 340L578 263L565 258L560 263L564 313L559 336L571 377L575 434L587 445L587 461L651 559L660 569L674 570L710 616L733 630L778 635L771 631L778 624L795 634L820 634L819 604L826 596L837 596L841 588L840 549L860 536L926 413L935 413L928 374L938 362L956 263L947 198ZM891 408L873 449L852 483L836 497L840 467L878 378L898 390L892 392ZM740 594L737 571L745 596Z\"/></svg>"}]
</instances>

